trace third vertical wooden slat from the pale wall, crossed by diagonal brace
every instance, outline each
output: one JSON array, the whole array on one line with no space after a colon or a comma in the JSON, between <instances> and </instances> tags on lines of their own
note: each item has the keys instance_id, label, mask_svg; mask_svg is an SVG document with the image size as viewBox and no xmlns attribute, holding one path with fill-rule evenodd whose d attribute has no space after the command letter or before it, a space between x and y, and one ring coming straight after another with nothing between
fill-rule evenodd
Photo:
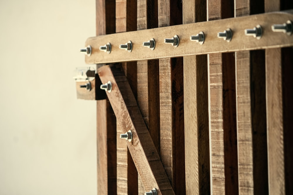
<instances>
[{"instance_id":1,"label":"third vertical wooden slat from the pale wall, crossed by diagonal brace","mask_svg":"<svg viewBox=\"0 0 293 195\"><path fill-rule=\"evenodd\" d=\"M158 2L137 1L137 30L158 27ZM152 37L145 37L148 41ZM145 48L146 52L149 48ZM157 151L160 146L159 115L159 61L137 61L137 103ZM138 194L145 190L138 176Z\"/></svg>"}]
</instances>

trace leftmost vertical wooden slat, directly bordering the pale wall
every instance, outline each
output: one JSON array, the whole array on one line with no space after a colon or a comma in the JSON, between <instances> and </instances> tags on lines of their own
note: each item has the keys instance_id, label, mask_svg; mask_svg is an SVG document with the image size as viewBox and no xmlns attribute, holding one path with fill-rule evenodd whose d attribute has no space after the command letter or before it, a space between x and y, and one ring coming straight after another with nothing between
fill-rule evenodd
<instances>
[{"instance_id":1,"label":"leftmost vertical wooden slat, directly bordering the pale wall","mask_svg":"<svg viewBox=\"0 0 293 195\"><path fill-rule=\"evenodd\" d=\"M115 0L96 0L96 35L111 33L115 33ZM116 158L116 118L106 98L97 101L98 194L117 194Z\"/></svg>"}]
</instances>

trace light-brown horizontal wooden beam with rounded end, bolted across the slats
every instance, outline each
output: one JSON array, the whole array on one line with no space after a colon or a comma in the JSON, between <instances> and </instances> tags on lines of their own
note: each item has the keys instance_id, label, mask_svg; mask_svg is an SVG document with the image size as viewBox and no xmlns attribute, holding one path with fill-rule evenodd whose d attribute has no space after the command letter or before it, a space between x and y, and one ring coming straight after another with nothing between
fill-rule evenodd
<instances>
[{"instance_id":1,"label":"light-brown horizontal wooden beam with rounded end, bolted across the slats","mask_svg":"<svg viewBox=\"0 0 293 195\"><path fill-rule=\"evenodd\" d=\"M91 45L92 54L91 56L86 56L85 61L88 64L115 63L219 52L289 47L293 46L293 36L288 36L282 32L273 32L271 26L273 24L286 23L287 20L293 20L292 13L293 10L287 12L271 12L239 18L90 37L86 40L85 45ZM253 36L246 36L244 33L245 29L252 29L256 25L260 25L263 29L263 36L259 40ZM218 32L223 32L227 28L230 28L233 32L231 42L217 37ZM190 41L190 36L196 35L200 31L205 33L205 42L199 44ZM178 47L164 43L165 38L171 38L174 35L178 35L179 37ZM155 40L154 50L142 46L142 42L146 42L152 38ZM128 41L132 41L131 52L119 49L120 44L125 44ZM112 47L110 54L99 50L100 46L108 42L111 43Z\"/></svg>"}]
</instances>

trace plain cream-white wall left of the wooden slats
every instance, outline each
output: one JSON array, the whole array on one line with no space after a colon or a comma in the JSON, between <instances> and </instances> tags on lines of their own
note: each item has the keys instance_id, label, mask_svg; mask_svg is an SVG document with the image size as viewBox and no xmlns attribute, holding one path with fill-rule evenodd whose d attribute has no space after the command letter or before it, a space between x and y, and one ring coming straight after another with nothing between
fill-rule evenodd
<instances>
[{"instance_id":1,"label":"plain cream-white wall left of the wooden slats","mask_svg":"<svg viewBox=\"0 0 293 195\"><path fill-rule=\"evenodd\" d=\"M96 194L96 102L75 67L94 0L0 0L0 194Z\"/></svg>"}]
</instances>

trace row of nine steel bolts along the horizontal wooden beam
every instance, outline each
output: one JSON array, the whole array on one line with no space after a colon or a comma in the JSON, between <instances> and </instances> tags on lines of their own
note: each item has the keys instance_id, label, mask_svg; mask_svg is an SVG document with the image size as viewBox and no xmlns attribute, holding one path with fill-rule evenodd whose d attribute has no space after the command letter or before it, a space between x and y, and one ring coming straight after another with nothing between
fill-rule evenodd
<instances>
[{"instance_id":1,"label":"row of nine steel bolts along the horizontal wooden beam","mask_svg":"<svg viewBox=\"0 0 293 195\"><path fill-rule=\"evenodd\" d=\"M286 33L288 35L291 35L292 31L293 31L292 22L290 20L288 20L287 23L284 23L284 24L274 24L274 25L272 25L272 31L273 32L284 32L284 33ZM257 39L260 39L262 34L263 34L263 30L262 30L262 27L260 25L257 25L253 29L245 29L244 32L245 32L245 35L253 36L253 37L257 38ZM230 28L228 28L224 32L218 32L217 36L219 38L223 38L227 42L230 42L231 39L232 39L232 30ZM190 40L199 42L200 44L203 44L205 42L205 34L203 32L200 32L195 36L191 36ZM178 37L178 35L175 35L171 39L164 39L164 42L172 44L175 47L178 47L178 45L179 45L179 37ZM148 42L143 42L142 43L142 46L148 47L151 50L155 49L155 45L156 44L155 44L154 39L151 39ZM125 49L128 52L131 52L132 51L132 42L128 41L125 44L120 44L119 48L120 49ZM100 46L100 50L105 51L108 54L110 54L111 53L111 44L107 43L104 46ZM84 53L84 54L87 54L88 56L91 56L91 52L92 52L91 46L89 45L86 48L80 49L80 52Z\"/></svg>"}]
</instances>

